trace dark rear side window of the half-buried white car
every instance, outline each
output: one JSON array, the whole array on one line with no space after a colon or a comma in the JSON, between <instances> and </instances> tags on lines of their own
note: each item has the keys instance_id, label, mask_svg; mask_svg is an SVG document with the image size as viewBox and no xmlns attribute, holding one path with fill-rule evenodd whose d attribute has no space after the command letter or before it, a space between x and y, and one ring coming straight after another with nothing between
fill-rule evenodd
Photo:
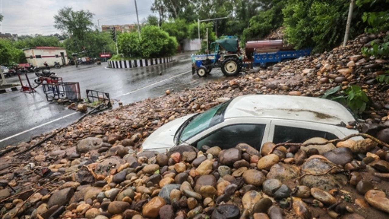
<instances>
[{"instance_id":1,"label":"dark rear side window of the half-buried white car","mask_svg":"<svg viewBox=\"0 0 389 219\"><path fill-rule=\"evenodd\" d=\"M304 141L314 137L321 137L327 140L338 138L335 134L330 132L275 125L273 143L278 144L286 141L289 141L289 143L303 143Z\"/></svg>"}]
</instances>

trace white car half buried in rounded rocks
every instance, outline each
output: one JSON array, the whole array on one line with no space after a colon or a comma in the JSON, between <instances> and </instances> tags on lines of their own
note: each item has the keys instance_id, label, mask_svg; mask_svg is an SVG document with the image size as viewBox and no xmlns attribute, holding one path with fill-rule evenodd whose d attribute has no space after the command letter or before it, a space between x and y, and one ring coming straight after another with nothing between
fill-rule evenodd
<instances>
[{"instance_id":1,"label":"white car half buried in rounded rocks","mask_svg":"<svg viewBox=\"0 0 389 219\"><path fill-rule=\"evenodd\" d=\"M203 113L177 118L154 131L143 150L166 152L181 143L201 149L221 149L247 143L260 150L266 141L303 143L313 137L327 140L357 133L340 125L355 121L350 111L335 101L287 95L244 95Z\"/></svg>"}]
</instances>

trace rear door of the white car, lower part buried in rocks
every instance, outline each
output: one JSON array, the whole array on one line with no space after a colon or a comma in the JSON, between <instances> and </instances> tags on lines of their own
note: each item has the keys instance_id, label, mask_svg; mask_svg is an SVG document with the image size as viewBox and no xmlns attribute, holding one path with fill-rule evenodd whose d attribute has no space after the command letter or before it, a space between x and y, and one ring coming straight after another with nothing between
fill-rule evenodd
<instances>
[{"instance_id":1,"label":"rear door of the white car, lower part buried in rocks","mask_svg":"<svg viewBox=\"0 0 389 219\"><path fill-rule=\"evenodd\" d=\"M277 119L272 119L270 122L268 141L275 144L288 140L290 143L303 143L314 137L332 140L343 138L345 134L337 129L335 125Z\"/></svg>"}]
</instances>

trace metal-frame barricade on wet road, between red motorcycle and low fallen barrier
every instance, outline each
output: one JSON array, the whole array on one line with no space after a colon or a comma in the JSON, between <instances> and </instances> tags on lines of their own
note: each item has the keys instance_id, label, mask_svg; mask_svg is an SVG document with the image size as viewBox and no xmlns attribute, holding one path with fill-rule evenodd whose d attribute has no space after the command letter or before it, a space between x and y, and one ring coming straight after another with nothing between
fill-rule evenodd
<instances>
[{"instance_id":1,"label":"metal-frame barricade on wet road, between red motorcycle and low fallen barrier","mask_svg":"<svg viewBox=\"0 0 389 219\"><path fill-rule=\"evenodd\" d=\"M58 82L58 80L49 82L42 83L43 92L46 94L47 101L59 99L68 99L69 101L81 100L80 85L78 82Z\"/></svg>"}]
</instances>

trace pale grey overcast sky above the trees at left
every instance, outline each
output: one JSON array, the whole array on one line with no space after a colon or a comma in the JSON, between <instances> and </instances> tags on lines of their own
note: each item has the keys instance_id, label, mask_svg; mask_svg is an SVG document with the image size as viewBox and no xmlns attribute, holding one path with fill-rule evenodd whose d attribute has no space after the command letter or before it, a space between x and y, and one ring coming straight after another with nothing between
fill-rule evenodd
<instances>
[{"instance_id":1,"label":"pale grey overcast sky above the trees at left","mask_svg":"<svg viewBox=\"0 0 389 219\"><path fill-rule=\"evenodd\" d=\"M139 22L152 14L154 0L137 0ZM54 28L54 15L63 7L89 10L93 23L101 25L137 22L134 0L2 0L2 32L18 35L61 33ZM154 14L156 15L156 14Z\"/></svg>"}]
</instances>

